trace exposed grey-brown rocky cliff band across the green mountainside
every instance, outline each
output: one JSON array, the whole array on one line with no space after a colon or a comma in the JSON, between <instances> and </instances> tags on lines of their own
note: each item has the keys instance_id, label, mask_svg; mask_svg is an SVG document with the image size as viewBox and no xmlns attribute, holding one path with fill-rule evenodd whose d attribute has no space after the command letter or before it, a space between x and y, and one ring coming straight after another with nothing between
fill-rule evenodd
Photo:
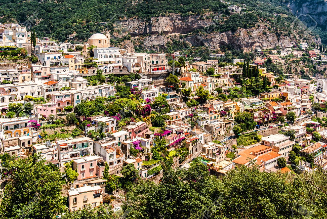
<instances>
[{"instance_id":1,"label":"exposed grey-brown rocky cliff band across the green mountainside","mask_svg":"<svg viewBox=\"0 0 327 219\"><path fill-rule=\"evenodd\" d=\"M239 28L236 32L222 33L208 28L214 24L212 19L204 19L200 16L182 18L180 15L170 15L151 18L150 21L130 19L120 22L121 31L118 31L117 36L124 36L127 33L132 36L132 41L123 43L124 46L128 45L129 51L132 51L133 43L142 44L143 49L158 51L173 39L188 42L190 46L207 46L210 49L218 49L221 45L230 44L235 49L244 51L251 51L255 46L267 49L276 46L285 48L290 45L290 42L296 42L293 35L288 37L282 34L278 37L274 31L269 31L264 23L260 23L259 27L256 25L250 29ZM207 33L200 35L192 33L197 29ZM310 36L308 41L321 43L320 39L316 40Z\"/></svg>"}]
</instances>

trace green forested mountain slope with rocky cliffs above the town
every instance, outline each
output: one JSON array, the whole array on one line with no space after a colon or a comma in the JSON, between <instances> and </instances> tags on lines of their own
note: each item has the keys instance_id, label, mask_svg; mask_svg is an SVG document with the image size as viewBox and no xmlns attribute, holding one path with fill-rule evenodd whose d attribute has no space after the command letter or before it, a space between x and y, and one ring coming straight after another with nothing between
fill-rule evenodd
<instances>
[{"instance_id":1,"label":"green forested mountain slope with rocky cliffs above the town","mask_svg":"<svg viewBox=\"0 0 327 219\"><path fill-rule=\"evenodd\" d=\"M295 17L280 2L230 3L242 6L242 13L231 15L229 5L218 0L1 0L0 22L32 23L39 37L60 42L72 33L81 42L93 33L110 31L112 45L129 51L164 51L169 44L177 49L230 44L250 51L255 45L284 47L303 39L321 43L318 36L302 36L292 25Z\"/></svg>"}]
</instances>

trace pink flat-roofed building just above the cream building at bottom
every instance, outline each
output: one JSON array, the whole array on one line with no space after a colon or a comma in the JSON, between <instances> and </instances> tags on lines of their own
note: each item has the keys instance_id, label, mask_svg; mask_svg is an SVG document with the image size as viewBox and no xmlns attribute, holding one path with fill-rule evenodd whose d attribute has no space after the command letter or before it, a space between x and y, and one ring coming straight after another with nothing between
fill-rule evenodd
<instances>
[{"instance_id":1,"label":"pink flat-roofed building just above the cream building at bottom","mask_svg":"<svg viewBox=\"0 0 327 219\"><path fill-rule=\"evenodd\" d=\"M74 160L73 169L78 173L77 180L102 177L105 165L100 165L102 164L101 161L103 161L102 158L96 155Z\"/></svg>"}]
</instances>

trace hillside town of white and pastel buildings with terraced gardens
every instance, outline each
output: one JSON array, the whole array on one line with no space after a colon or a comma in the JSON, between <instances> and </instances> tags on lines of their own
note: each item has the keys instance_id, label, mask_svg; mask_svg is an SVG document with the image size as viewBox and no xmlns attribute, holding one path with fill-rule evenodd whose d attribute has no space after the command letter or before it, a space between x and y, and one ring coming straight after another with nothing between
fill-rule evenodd
<instances>
[{"instance_id":1,"label":"hillside town of white and pastel buildings with terraced gardens","mask_svg":"<svg viewBox=\"0 0 327 219\"><path fill-rule=\"evenodd\" d=\"M208 60L129 52L109 33L72 44L0 24L1 158L39 156L58 169L68 211L107 203L119 212L129 183L160 183L168 164L189 170L197 160L217 178L242 166L325 169L327 78L305 64L302 74L269 71L285 57L326 71L322 45L251 54L223 63L219 50Z\"/></svg>"}]
</instances>

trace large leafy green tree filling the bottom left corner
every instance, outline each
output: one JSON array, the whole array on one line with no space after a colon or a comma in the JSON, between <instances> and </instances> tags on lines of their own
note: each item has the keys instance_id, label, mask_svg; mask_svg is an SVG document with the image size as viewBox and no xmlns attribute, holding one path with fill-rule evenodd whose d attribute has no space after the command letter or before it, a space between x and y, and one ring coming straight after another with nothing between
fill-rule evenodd
<instances>
[{"instance_id":1,"label":"large leafy green tree filling the bottom left corner","mask_svg":"<svg viewBox=\"0 0 327 219\"><path fill-rule=\"evenodd\" d=\"M54 218L64 211L61 176L45 165L42 156L24 159L2 155L1 179L6 181L0 205L1 218Z\"/></svg>"}]
</instances>

